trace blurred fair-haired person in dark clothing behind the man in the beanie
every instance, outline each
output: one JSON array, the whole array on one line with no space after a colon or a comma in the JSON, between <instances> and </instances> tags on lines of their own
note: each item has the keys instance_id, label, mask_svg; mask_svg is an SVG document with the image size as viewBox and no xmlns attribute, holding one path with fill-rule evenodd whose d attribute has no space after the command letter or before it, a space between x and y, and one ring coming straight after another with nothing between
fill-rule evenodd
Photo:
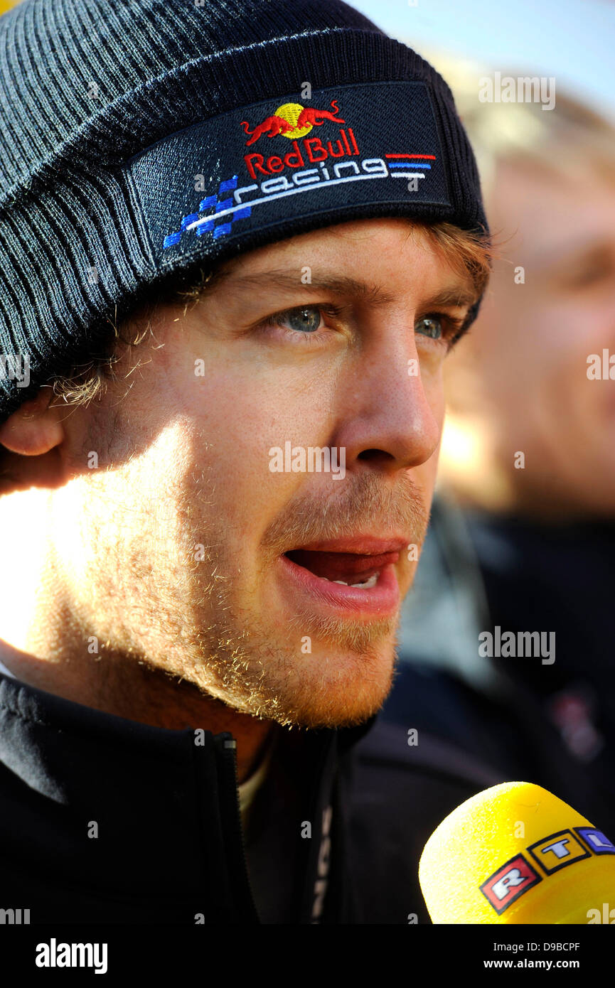
<instances>
[{"instance_id":1,"label":"blurred fair-haired person in dark clothing behind the man in the beanie","mask_svg":"<svg viewBox=\"0 0 615 988\"><path fill-rule=\"evenodd\" d=\"M615 130L560 93L552 111L481 103L478 75L441 70L503 246L448 367L438 494L385 715L613 833ZM536 631L548 653L518 654L519 632ZM489 655L484 632L491 653L505 632L514 644Z\"/></svg>"}]
</instances>

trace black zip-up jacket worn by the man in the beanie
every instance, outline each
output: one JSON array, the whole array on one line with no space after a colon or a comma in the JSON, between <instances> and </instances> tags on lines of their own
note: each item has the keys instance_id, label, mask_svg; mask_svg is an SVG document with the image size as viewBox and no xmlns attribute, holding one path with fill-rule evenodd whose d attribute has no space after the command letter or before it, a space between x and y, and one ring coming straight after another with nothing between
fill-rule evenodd
<instances>
[{"instance_id":1,"label":"black zip-up jacket worn by the man in the beanie","mask_svg":"<svg viewBox=\"0 0 615 988\"><path fill-rule=\"evenodd\" d=\"M0 908L31 924L428 923L424 842L498 780L425 732L409 746L411 727L280 729L246 840L230 734L196 743L0 676Z\"/></svg>"}]
</instances>

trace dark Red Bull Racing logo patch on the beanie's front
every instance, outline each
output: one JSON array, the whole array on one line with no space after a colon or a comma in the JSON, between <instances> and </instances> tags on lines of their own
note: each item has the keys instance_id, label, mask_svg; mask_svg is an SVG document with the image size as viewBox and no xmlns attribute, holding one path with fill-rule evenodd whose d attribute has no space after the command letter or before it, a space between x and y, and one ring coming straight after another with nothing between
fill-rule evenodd
<instances>
[{"instance_id":1,"label":"dark Red Bull Racing logo patch on the beanie's front","mask_svg":"<svg viewBox=\"0 0 615 988\"><path fill-rule=\"evenodd\" d=\"M132 177L161 251L192 251L201 237L233 242L242 231L293 215L372 203L403 207L412 199L451 206L422 83L331 86L304 97L308 106L291 102L296 98L274 91L267 101L199 121L194 144L191 127L170 134L173 153L161 172L168 223L160 216L162 178L153 185L141 161L150 160L148 149L134 156Z\"/></svg>"}]
</instances>

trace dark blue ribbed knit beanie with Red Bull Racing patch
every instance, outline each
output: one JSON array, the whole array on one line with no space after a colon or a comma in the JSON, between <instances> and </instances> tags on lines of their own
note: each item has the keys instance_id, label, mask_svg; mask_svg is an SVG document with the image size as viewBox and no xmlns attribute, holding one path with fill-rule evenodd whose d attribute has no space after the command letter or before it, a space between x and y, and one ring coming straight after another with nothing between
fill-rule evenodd
<instances>
[{"instance_id":1,"label":"dark blue ribbed knit beanie with Red Bull Racing patch","mask_svg":"<svg viewBox=\"0 0 615 988\"><path fill-rule=\"evenodd\" d=\"M0 66L0 422L170 277L353 218L487 229L449 87L339 0L24 0Z\"/></svg>"}]
</instances>

